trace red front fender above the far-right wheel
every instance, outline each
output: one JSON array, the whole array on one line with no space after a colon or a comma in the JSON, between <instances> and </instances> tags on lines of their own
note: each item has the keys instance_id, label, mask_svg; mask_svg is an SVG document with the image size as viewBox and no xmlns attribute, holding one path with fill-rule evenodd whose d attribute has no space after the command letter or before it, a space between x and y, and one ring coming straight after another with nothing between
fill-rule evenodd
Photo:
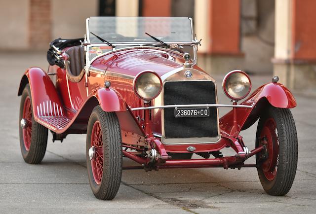
<instances>
[{"instance_id":1,"label":"red front fender above the far-right wheel","mask_svg":"<svg viewBox=\"0 0 316 214\"><path fill-rule=\"evenodd\" d=\"M252 108L237 108L237 129L233 129L233 110L220 118L220 129L223 134L237 135L241 130L249 128L257 121L268 105L278 108L296 107L291 92L280 83L268 83L256 89L241 105ZM232 133L234 132L234 133Z\"/></svg>"}]
</instances>

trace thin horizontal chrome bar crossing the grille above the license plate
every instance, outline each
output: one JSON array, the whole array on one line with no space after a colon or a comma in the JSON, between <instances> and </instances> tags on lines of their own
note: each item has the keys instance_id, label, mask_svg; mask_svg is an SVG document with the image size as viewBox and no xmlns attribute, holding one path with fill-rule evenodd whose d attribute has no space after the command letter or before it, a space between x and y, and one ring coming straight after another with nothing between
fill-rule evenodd
<instances>
[{"instance_id":1,"label":"thin horizontal chrome bar crossing the grille above the license plate","mask_svg":"<svg viewBox=\"0 0 316 214\"><path fill-rule=\"evenodd\" d=\"M226 104L189 104L189 105L166 105L166 106L152 106L152 107L137 107L131 108L132 111L135 110L146 110L146 109L155 109L155 108L174 108L174 107L240 107L240 108L252 108L251 106L246 105L226 105Z\"/></svg>"}]
</instances>

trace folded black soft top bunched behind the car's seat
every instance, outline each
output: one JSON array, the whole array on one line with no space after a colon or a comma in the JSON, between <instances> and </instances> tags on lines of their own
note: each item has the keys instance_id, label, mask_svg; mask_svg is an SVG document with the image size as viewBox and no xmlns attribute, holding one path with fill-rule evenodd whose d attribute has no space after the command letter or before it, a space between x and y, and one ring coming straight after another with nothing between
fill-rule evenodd
<instances>
[{"instance_id":1,"label":"folded black soft top bunched behind the car's seat","mask_svg":"<svg viewBox=\"0 0 316 214\"><path fill-rule=\"evenodd\" d=\"M58 47L59 50L62 50L66 47L72 47L72 46L77 46L80 45L81 42L83 42L84 38L74 38L74 39L63 39L63 38L56 38L55 40L51 41L49 43L49 49L47 51L47 61L49 65L58 65L61 68L64 68L64 63L61 60L58 60L56 58L56 54L54 53L55 49L53 48L53 45L55 47Z\"/></svg>"}]
</instances>

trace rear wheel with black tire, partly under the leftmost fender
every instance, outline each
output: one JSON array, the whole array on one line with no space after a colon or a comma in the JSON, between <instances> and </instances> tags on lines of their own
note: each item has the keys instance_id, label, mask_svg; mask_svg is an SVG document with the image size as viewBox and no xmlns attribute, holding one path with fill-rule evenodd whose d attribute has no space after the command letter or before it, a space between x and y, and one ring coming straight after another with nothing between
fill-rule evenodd
<instances>
[{"instance_id":1,"label":"rear wheel with black tire, partly under the leftmost fender","mask_svg":"<svg viewBox=\"0 0 316 214\"><path fill-rule=\"evenodd\" d=\"M29 164L39 164L46 151L48 130L34 120L31 90L27 84L20 104L19 133L23 159ZM21 120L26 122L22 128Z\"/></svg>"}]
</instances>

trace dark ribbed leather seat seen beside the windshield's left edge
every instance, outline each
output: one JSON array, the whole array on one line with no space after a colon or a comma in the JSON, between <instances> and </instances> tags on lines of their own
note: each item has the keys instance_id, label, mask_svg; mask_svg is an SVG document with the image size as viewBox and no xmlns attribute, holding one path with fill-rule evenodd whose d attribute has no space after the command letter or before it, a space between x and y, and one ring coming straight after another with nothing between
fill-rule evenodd
<instances>
[{"instance_id":1,"label":"dark ribbed leather seat seen beside the windshield's left edge","mask_svg":"<svg viewBox=\"0 0 316 214\"><path fill-rule=\"evenodd\" d=\"M71 47L66 51L66 53L69 56L70 73L74 76L79 76L85 65L84 47L83 46Z\"/></svg>"}]
</instances>

